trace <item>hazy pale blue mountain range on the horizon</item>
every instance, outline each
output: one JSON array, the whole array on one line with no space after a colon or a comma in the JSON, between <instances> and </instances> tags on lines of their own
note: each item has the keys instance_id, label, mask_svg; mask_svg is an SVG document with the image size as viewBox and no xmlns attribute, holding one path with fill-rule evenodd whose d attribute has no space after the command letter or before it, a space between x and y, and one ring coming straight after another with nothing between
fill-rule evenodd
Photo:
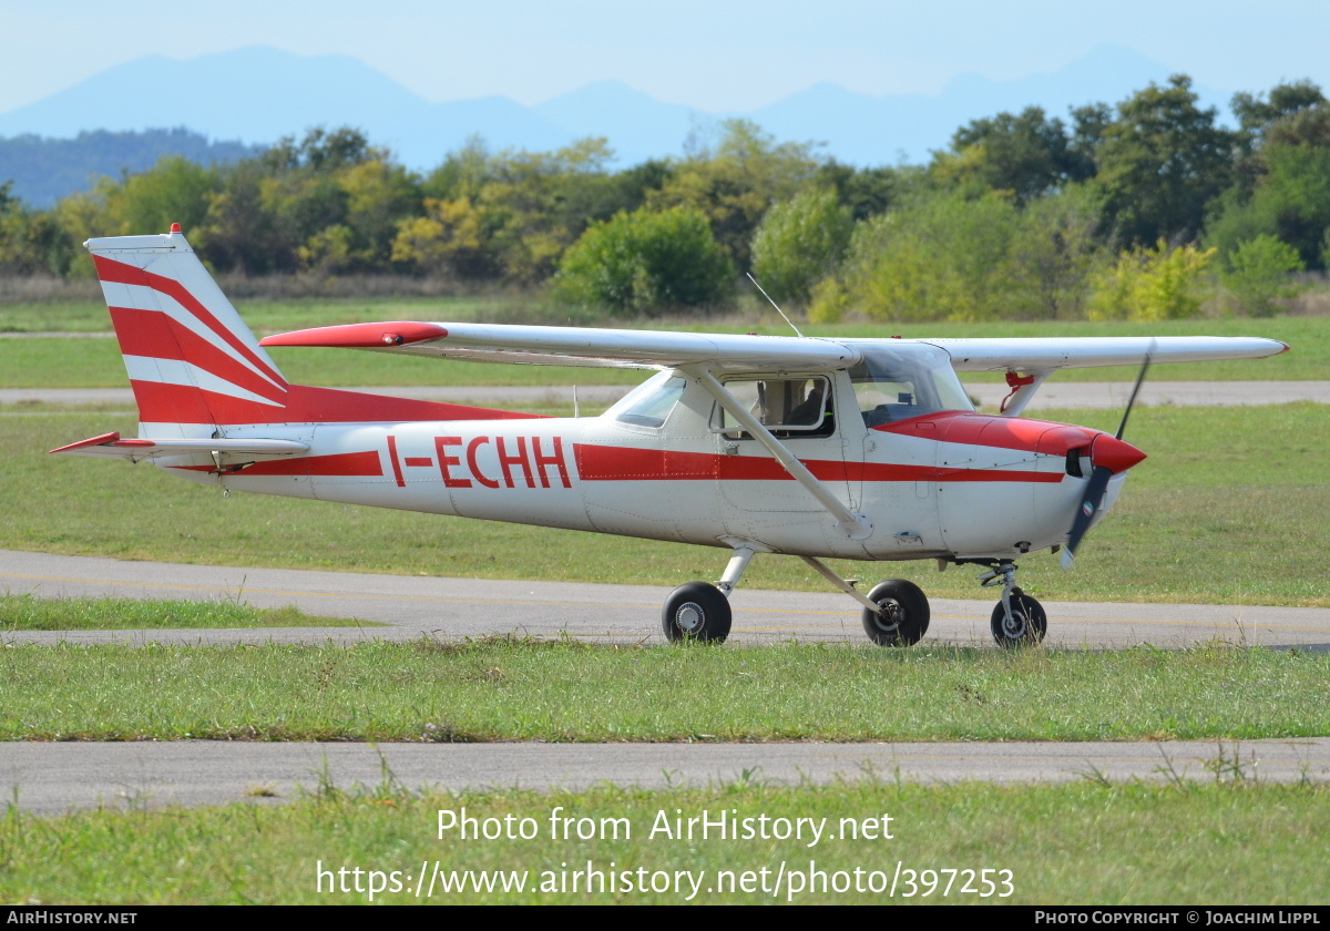
<instances>
[{"instance_id":1,"label":"hazy pale blue mountain range on the horizon","mask_svg":"<svg viewBox=\"0 0 1330 931\"><path fill-rule=\"evenodd\" d=\"M430 169L473 134L492 149L528 150L605 136L620 164L632 165L678 156L690 136L705 140L725 116L742 116L782 141L818 141L839 161L880 165L927 160L970 120L1029 105L1065 118L1068 106L1117 102L1168 76L1165 65L1101 45L1056 72L1016 81L964 74L935 96L882 97L818 84L750 113L718 114L665 104L618 81L596 81L535 106L497 96L431 104L356 59L254 47L188 61L150 56L108 68L0 114L0 137L189 126L211 138L261 145L311 126L351 125L391 148L403 164ZM1228 94L1197 92L1208 105L1228 102ZM0 166L0 181L5 177Z\"/></svg>"}]
</instances>

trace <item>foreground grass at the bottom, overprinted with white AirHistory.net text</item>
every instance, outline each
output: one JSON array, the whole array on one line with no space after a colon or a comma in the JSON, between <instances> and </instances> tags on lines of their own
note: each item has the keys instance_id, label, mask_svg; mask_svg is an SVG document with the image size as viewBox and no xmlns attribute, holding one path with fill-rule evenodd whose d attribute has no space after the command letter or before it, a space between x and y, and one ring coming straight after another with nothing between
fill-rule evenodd
<instances>
[{"instance_id":1,"label":"foreground grass at the bottom, overprinted with white AirHistory.net text","mask_svg":"<svg viewBox=\"0 0 1330 931\"><path fill-rule=\"evenodd\" d=\"M311 782L314 782L311 779ZM376 903L660 903L688 899L684 892L636 888L630 892L540 891L541 883L572 886L572 874L637 870L645 876L677 870L698 876L692 900L713 903L795 902L801 904L1185 904L1198 903L1306 906L1323 900L1322 823L1325 786L1252 782L1206 785L1119 785L1079 782L1057 786L896 785L878 779L831 785L774 787L761 778L729 786L646 791L602 787L584 793L472 791L416 794L386 775L379 786L346 791L322 781L293 805L233 805L200 810L100 810L59 818L11 811L0 821L0 899L27 903L184 904L331 904L368 902L367 891L330 891L338 870L391 874L400 891L379 891ZM561 814L626 819L618 838L551 839L549 817ZM531 818L539 831L529 841L460 841L455 831L438 835L439 811L468 817ZM891 839L823 839L814 847L799 839L673 841L650 837L660 813L698 817L704 810L733 811L739 818L826 818L827 834L842 818L890 815ZM528 830L529 833L529 830ZM606 831L608 833L608 831ZM898 863L902 874L898 874ZM783 867L782 867L783 864ZM442 870L520 871L527 890L493 892L442 891L415 896L415 878ZM319 890L319 870L329 871ZM789 880L773 895L777 875L813 868L827 874L811 888L791 892ZM861 883L884 891L855 891ZM1011 895L962 894L962 874L944 895L947 874L924 875L910 887L904 870L1009 870ZM761 875L758 871L767 870ZM705 871L705 872L701 872ZM753 891L730 891L720 871L753 871ZM835 876L837 872L849 874ZM880 875L871 876L868 874ZM410 876L410 880L407 879ZM990 878L1003 879L998 872ZM934 883L928 884L928 879ZM383 890L388 876L376 880ZM583 880L585 882L585 880ZM657 880L657 888L668 888ZM362 890L370 874L359 876ZM847 887L835 892L837 884ZM765 888L763 888L765 887ZM584 886L579 887L580 890ZM1007 887L991 887L1005 892ZM724 890L724 891L722 891ZM928 890L931 895L924 896ZM1204 919L1202 919L1204 920Z\"/></svg>"}]
</instances>

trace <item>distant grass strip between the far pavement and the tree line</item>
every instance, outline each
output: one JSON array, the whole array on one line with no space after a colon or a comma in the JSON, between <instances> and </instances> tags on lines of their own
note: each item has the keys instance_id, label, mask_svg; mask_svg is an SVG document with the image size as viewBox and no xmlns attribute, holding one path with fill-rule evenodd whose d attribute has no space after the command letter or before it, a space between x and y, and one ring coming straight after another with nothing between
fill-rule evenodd
<instances>
[{"instance_id":1,"label":"distant grass strip between the far pavement and the tree line","mask_svg":"<svg viewBox=\"0 0 1330 931\"><path fill-rule=\"evenodd\" d=\"M374 319L440 319L438 315L407 314L406 311L438 310L430 305L387 305L359 317ZM371 309L366 309L371 310ZM391 313L390 313L391 311ZM279 331L301 326L325 326L356 322L354 314L338 310L319 321L317 311L311 319L297 323L282 317L285 326L266 326L271 321L262 315L250 321L258 330ZM460 311L459 311L460 313ZM469 309L463 319L469 319ZM106 318L105 310L101 310ZM4 307L0 307L0 322ZM448 318L442 318L448 319ZM777 321L777 323L781 323ZM610 323L612 326L612 323ZM649 329L684 329L716 332L770 332L787 335L787 330L774 323L750 325L741 321L697 323L653 321ZM109 318L96 327L109 329ZM963 338L963 336L1116 336L1116 335L1213 335L1213 336L1267 336L1289 343L1293 350L1270 359L1197 362L1160 364L1150 370L1154 380L1303 380L1330 378L1326 359L1330 359L1330 317L1278 317L1264 321L1209 319L1172 321L1162 323L986 323L983 327L959 323L902 323L898 326L837 325L817 327L821 336L888 336L907 338ZM811 330L809 331L813 332ZM435 384L634 384L646 372L620 368L561 368L549 366L503 366L444 359L423 359L383 352L356 350L275 348L273 360L283 375L298 384L370 387L370 386L435 386ZM1132 380L1137 367L1076 368L1057 372L1059 382ZM990 372L967 372L966 380L1000 380ZM98 338L0 338L0 387L59 387L94 388L125 386L125 366L114 339Z\"/></svg>"}]
</instances>

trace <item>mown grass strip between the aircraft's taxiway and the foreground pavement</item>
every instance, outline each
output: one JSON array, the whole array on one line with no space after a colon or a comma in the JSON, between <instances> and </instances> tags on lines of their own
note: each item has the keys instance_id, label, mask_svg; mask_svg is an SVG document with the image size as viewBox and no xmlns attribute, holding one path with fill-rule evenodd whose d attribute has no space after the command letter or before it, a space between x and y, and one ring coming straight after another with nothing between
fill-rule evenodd
<instances>
[{"instance_id":1,"label":"mown grass strip between the aircraft's taxiway and the foreground pavement","mask_svg":"<svg viewBox=\"0 0 1330 931\"><path fill-rule=\"evenodd\" d=\"M1330 733L1330 656L826 645L12 645L0 739L1104 741ZM681 700L686 696L686 700Z\"/></svg>"}]
</instances>

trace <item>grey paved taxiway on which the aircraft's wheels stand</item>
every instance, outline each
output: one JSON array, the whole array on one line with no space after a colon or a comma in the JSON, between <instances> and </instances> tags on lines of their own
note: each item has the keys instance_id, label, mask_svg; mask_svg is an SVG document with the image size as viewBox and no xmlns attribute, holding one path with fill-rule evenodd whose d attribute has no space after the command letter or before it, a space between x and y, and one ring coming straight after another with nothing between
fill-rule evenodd
<instances>
[{"instance_id":1,"label":"grey paved taxiway on which the aircraft's wheels stand","mask_svg":"<svg viewBox=\"0 0 1330 931\"><path fill-rule=\"evenodd\" d=\"M872 567L890 575L890 567ZM950 569L967 572L974 569ZM830 588L830 587L829 587ZM245 567L120 561L0 551L0 589L44 597L243 598L259 608L295 605L310 614L355 617L387 626L250 630L7 632L5 642L356 642L488 634L572 636L596 642L660 642L668 588L485 579L306 572ZM976 585L976 593L978 593ZM996 596L994 596L995 598ZM926 642L994 646L994 598L931 598ZM864 645L861 610L839 592L735 591L738 644L833 641ZM1148 642L1181 648L1212 640L1273 648L1330 649L1330 609L1048 601L1047 642L1113 648ZM994 649L996 649L994 646Z\"/></svg>"}]
</instances>

